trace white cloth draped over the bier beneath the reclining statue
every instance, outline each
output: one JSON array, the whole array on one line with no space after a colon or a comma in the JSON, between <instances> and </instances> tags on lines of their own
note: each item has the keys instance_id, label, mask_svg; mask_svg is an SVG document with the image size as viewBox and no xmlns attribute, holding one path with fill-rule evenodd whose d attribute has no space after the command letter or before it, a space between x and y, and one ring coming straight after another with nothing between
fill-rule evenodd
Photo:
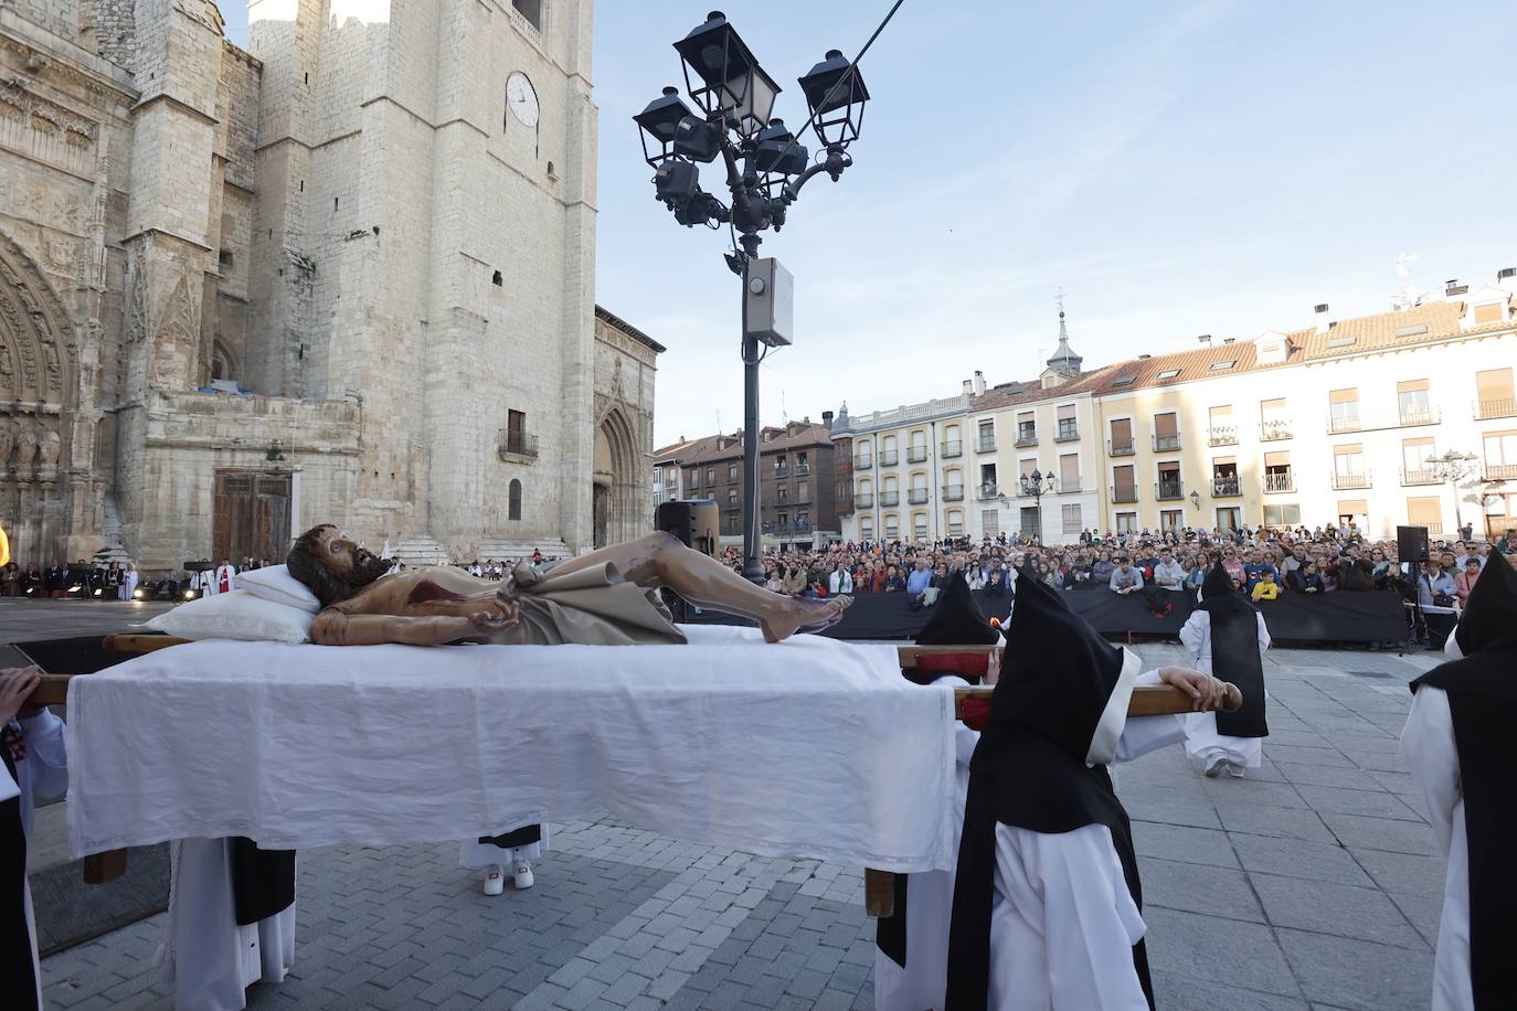
<instances>
[{"instance_id":1,"label":"white cloth draped over the bier beneath the reclining statue","mask_svg":"<svg viewBox=\"0 0 1517 1011\"><path fill-rule=\"evenodd\" d=\"M458 840L608 811L677 838L948 869L953 693L894 646L190 643L68 687L74 853Z\"/></svg>"}]
</instances>

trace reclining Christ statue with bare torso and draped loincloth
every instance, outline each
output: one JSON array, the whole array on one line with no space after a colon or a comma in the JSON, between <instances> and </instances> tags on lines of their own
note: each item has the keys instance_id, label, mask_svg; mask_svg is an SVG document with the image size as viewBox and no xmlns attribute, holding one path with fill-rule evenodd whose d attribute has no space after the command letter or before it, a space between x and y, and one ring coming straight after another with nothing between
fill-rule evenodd
<instances>
[{"instance_id":1,"label":"reclining Christ statue with bare torso and draped loincloth","mask_svg":"<svg viewBox=\"0 0 1517 1011\"><path fill-rule=\"evenodd\" d=\"M522 562L501 582L451 565L387 576L390 561L329 524L302 534L287 562L322 602L311 640L323 646L684 643L658 600L661 587L699 608L752 618L778 643L836 624L853 603L771 593L663 532L546 570Z\"/></svg>"}]
</instances>

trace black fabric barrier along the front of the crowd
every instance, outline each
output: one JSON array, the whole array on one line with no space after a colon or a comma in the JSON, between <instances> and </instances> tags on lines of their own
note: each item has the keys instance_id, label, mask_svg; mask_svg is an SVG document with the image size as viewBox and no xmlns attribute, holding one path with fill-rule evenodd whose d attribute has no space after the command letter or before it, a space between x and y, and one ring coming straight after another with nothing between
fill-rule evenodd
<instances>
[{"instance_id":1,"label":"black fabric barrier along the front of the crowd","mask_svg":"<svg viewBox=\"0 0 1517 1011\"><path fill-rule=\"evenodd\" d=\"M1012 597L974 594L986 618L1006 618ZM1074 590L1063 594L1069 608L1107 638L1162 635L1179 638L1180 626L1191 617L1194 600L1188 593L1165 591L1170 614L1154 617L1139 594L1118 597L1109 590ZM1332 593L1323 597L1283 593L1279 600L1261 600L1270 635L1283 643L1403 643L1406 617L1397 593ZM916 638L931 608L909 606L904 593L865 593L843 614L843 620L824 635L842 640ZM689 614L692 624L752 624L716 611Z\"/></svg>"}]
</instances>

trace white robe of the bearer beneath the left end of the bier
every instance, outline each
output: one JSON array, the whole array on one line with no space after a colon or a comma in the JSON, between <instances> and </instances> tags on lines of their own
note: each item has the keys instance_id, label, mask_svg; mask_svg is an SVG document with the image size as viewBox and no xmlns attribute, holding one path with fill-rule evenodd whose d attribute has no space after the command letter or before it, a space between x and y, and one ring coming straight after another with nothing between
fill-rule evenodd
<instances>
[{"instance_id":1,"label":"white robe of the bearer beneath the left end of the bier","mask_svg":"<svg viewBox=\"0 0 1517 1011\"><path fill-rule=\"evenodd\" d=\"M294 966L294 903L240 926L225 838L173 843L170 867L158 967L162 982L174 990L174 1008L241 1011L247 987L259 979L284 982Z\"/></svg>"}]
</instances>

